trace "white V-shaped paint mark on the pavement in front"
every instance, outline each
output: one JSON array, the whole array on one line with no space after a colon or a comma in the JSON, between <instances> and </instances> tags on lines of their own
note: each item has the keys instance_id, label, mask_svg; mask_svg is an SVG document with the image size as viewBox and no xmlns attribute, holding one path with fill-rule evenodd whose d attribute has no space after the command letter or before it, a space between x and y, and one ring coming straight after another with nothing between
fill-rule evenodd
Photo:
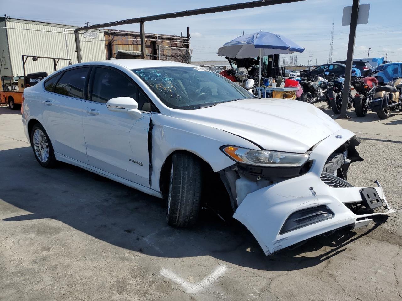
<instances>
[{"instance_id":1,"label":"white V-shaped paint mark on the pavement in front","mask_svg":"<svg viewBox=\"0 0 402 301\"><path fill-rule=\"evenodd\" d=\"M201 291L202 289L205 289L213 282L215 282L219 277L221 277L225 273L225 270L226 266L219 266L213 271L213 273L205 277L199 283L191 283L187 280L184 280L183 278L181 278L180 276L176 275L175 273L166 268L162 268L162 270L160 270L160 275L169 278L175 283L181 285L186 290L186 293L195 294Z\"/></svg>"}]
</instances>

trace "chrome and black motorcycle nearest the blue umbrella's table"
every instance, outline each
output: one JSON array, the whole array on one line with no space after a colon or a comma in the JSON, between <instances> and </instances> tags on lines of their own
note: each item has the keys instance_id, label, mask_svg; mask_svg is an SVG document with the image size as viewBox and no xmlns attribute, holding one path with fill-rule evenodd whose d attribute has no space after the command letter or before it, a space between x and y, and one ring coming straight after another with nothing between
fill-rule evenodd
<instances>
[{"instance_id":1,"label":"chrome and black motorcycle nearest the blue umbrella's table","mask_svg":"<svg viewBox=\"0 0 402 301\"><path fill-rule=\"evenodd\" d=\"M324 77L316 75L316 77L310 78L304 77L299 81L303 94L301 94L300 100L302 102L308 102L314 104L316 102L326 102L328 107L330 106L330 99L327 94L328 80Z\"/></svg>"}]
</instances>

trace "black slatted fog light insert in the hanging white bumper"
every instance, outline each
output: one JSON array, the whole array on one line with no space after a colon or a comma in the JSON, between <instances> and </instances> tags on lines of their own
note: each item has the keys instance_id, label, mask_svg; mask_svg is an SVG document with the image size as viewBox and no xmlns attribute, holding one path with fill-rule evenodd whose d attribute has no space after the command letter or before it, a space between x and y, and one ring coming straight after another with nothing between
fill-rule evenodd
<instances>
[{"instance_id":1,"label":"black slatted fog light insert in the hanging white bumper","mask_svg":"<svg viewBox=\"0 0 402 301\"><path fill-rule=\"evenodd\" d=\"M327 206L317 206L293 212L283 224L279 234L284 234L302 227L306 227L335 216Z\"/></svg>"}]
</instances>

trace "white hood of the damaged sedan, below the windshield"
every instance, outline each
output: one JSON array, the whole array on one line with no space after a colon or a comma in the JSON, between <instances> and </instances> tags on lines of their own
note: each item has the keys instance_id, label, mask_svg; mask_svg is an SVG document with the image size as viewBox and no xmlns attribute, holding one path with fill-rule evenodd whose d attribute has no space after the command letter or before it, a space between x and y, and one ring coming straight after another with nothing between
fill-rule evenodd
<instances>
[{"instance_id":1,"label":"white hood of the damaged sedan, below the windshield","mask_svg":"<svg viewBox=\"0 0 402 301\"><path fill-rule=\"evenodd\" d=\"M314 105L297 100L237 100L198 110L172 110L171 115L241 136L263 149L293 153L305 153L341 129Z\"/></svg>"}]
</instances>

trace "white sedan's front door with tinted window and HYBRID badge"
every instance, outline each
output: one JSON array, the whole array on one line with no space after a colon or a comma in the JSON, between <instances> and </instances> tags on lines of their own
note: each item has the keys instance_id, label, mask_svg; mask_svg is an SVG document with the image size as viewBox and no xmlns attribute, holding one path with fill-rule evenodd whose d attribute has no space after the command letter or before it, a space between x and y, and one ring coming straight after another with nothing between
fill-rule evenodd
<instances>
[{"instance_id":1,"label":"white sedan's front door with tinted window and HYBRID badge","mask_svg":"<svg viewBox=\"0 0 402 301\"><path fill-rule=\"evenodd\" d=\"M150 187L148 130L151 112L148 99L131 78L114 68L94 68L90 82L83 117L89 164ZM109 111L106 102L121 96L134 98L144 116L135 119L124 112Z\"/></svg>"}]
</instances>

